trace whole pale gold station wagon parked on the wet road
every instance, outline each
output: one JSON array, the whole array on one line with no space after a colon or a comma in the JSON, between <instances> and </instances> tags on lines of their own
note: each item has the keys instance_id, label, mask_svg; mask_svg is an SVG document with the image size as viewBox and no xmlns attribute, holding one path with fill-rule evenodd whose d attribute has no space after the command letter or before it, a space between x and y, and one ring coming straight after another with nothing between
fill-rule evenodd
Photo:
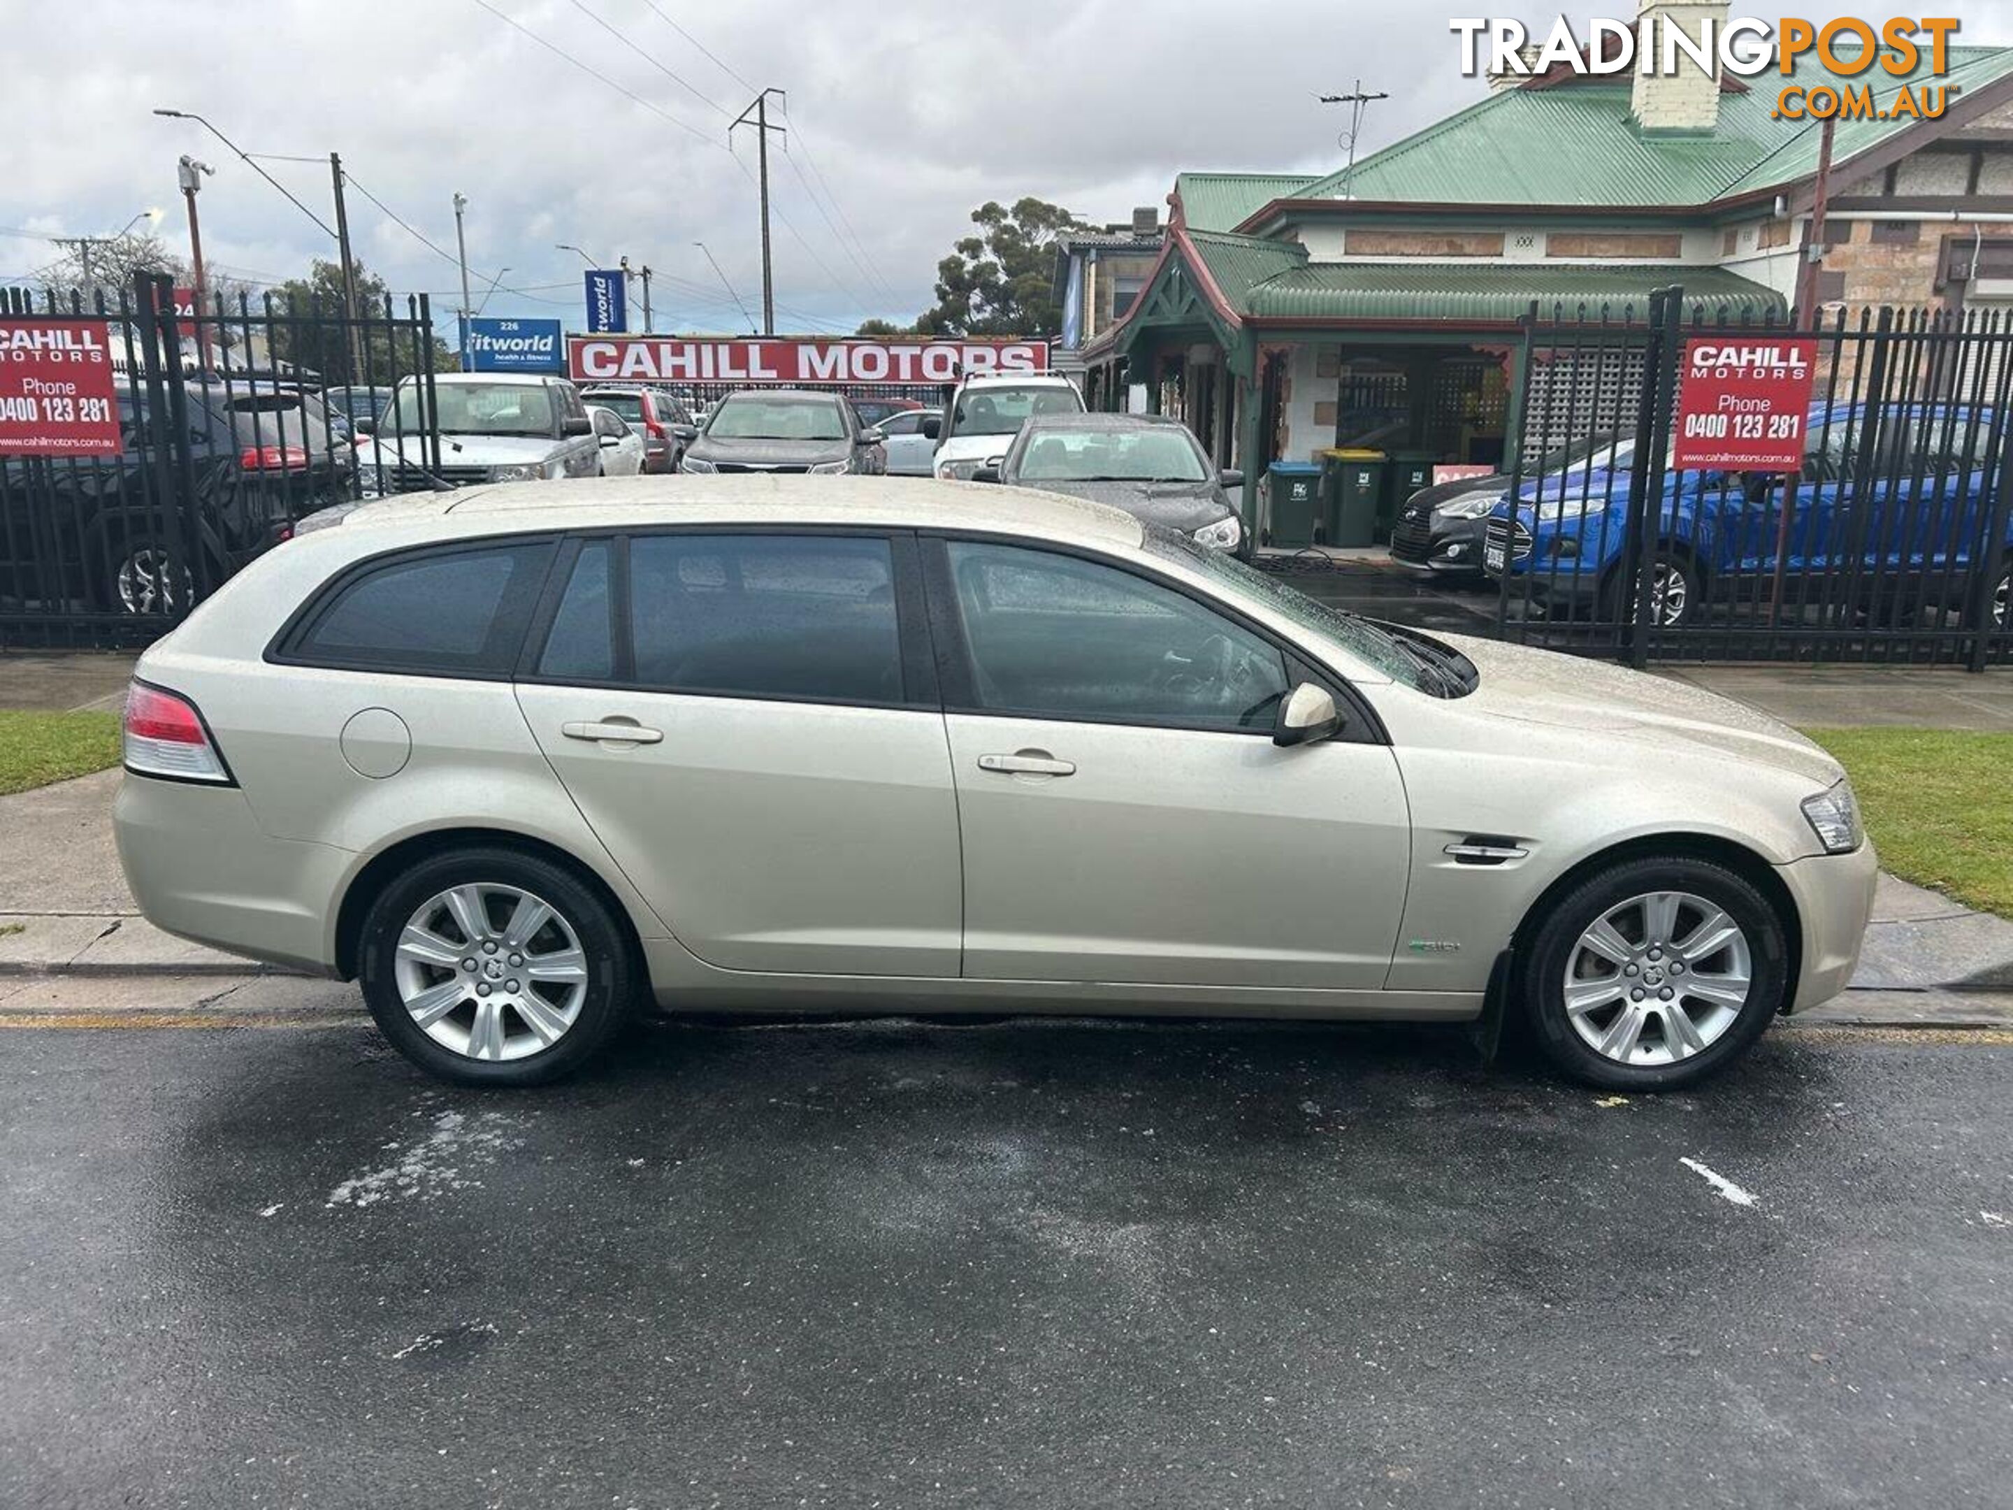
<instances>
[{"instance_id":1,"label":"whole pale gold station wagon parked on the wet road","mask_svg":"<svg viewBox=\"0 0 2013 1510\"><path fill-rule=\"evenodd\" d=\"M1840 991L1874 888L1838 763L1739 705L970 483L356 509L147 650L125 767L153 922L487 1085L654 999L1520 1011L1659 1089Z\"/></svg>"}]
</instances>

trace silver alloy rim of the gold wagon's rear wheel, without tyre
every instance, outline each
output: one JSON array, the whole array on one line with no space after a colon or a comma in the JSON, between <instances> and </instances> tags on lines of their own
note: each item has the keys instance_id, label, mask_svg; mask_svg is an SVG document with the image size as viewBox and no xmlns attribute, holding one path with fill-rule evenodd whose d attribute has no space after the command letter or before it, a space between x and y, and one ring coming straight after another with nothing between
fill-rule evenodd
<instances>
[{"instance_id":1,"label":"silver alloy rim of the gold wagon's rear wheel, without tyre","mask_svg":"<svg viewBox=\"0 0 2013 1510\"><path fill-rule=\"evenodd\" d=\"M465 884L407 918L393 962L413 1023L465 1059L525 1059L574 1027L588 960L574 924L517 886Z\"/></svg>"}]
</instances>

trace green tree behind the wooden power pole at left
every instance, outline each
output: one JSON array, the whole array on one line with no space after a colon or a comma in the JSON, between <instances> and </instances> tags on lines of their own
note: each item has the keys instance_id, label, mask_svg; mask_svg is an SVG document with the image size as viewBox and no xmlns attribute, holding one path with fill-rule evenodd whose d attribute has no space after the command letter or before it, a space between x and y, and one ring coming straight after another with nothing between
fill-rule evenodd
<instances>
[{"instance_id":1,"label":"green tree behind the wooden power pole at left","mask_svg":"<svg viewBox=\"0 0 2013 1510\"><path fill-rule=\"evenodd\" d=\"M391 385L433 366L453 372L461 366L453 346L431 330L423 338L393 320L411 318L415 304L391 298L384 280L360 262L350 264L356 282L356 318L360 328L346 324L342 304L342 264L320 258L306 278L288 278L266 300L248 300L254 334L264 334L264 318L272 320L272 358L318 372L326 383ZM231 314L240 306L231 304ZM360 336L360 338L358 338ZM354 342L354 352L352 352Z\"/></svg>"}]
</instances>

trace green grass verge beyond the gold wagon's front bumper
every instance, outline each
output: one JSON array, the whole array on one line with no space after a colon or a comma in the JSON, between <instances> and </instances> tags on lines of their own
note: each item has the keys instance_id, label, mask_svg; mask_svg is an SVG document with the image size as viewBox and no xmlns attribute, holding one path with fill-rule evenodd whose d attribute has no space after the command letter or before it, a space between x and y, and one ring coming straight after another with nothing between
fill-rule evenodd
<instances>
[{"instance_id":1,"label":"green grass verge beyond the gold wagon's front bumper","mask_svg":"<svg viewBox=\"0 0 2013 1510\"><path fill-rule=\"evenodd\" d=\"M1860 793L1880 864L1916 886L2013 918L2013 735L1810 729Z\"/></svg>"}]
</instances>

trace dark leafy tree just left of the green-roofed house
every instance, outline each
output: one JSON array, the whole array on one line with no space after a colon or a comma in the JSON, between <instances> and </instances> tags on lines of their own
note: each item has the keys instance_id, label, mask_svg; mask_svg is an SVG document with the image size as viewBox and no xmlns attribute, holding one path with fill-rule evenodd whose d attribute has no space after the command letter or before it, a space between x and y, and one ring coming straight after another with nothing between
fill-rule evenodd
<instances>
[{"instance_id":1,"label":"dark leafy tree just left of the green-roofed house","mask_svg":"<svg viewBox=\"0 0 2013 1510\"><path fill-rule=\"evenodd\" d=\"M1063 326L1055 298L1055 238L1089 230L1061 205L988 199L972 211L978 236L962 238L936 264L936 308L916 328L930 336L1047 338Z\"/></svg>"}]
</instances>

